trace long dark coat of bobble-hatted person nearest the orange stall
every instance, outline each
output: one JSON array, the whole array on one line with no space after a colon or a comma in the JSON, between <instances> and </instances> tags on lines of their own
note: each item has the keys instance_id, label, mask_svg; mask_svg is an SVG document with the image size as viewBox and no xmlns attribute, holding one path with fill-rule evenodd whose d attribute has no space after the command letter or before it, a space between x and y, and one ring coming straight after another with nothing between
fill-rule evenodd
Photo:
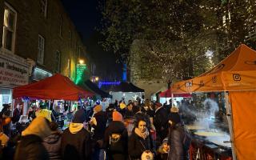
<instances>
[{"instance_id":1,"label":"long dark coat of bobble-hatted person nearest the orange stall","mask_svg":"<svg viewBox=\"0 0 256 160\"><path fill-rule=\"evenodd\" d=\"M174 129L170 130L170 151L168 160L188 160L187 150L183 149L183 139L185 137L184 126L176 124Z\"/></svg>"}]
</instances>

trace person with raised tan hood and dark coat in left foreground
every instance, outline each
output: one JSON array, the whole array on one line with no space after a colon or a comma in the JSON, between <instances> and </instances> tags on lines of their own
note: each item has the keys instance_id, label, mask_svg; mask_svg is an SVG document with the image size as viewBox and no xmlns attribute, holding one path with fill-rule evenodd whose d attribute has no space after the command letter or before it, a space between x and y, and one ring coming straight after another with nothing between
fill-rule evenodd
<instances>
[{"instance_id":1,"label":"person with raised tan hood and dark coat in left foreground","mask_svg":"<svg viewBox=\"0 0 256 160\"><path fill-rule=\"evenodd\" d=\"M34 118L30 126L22 132L14 160L47 160L49 155L42 145L42 139L50 135L48 120L43 117Z\"/></svg>"}]
</instances>

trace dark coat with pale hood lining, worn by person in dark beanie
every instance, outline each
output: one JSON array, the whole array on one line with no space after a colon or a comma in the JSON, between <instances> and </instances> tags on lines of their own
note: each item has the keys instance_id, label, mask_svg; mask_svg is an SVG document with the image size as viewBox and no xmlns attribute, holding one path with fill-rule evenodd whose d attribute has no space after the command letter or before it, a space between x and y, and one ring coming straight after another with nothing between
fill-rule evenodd
<instances>
[{"instance_id":1,"label":"dark coat with pale hood lining, worn by person in dark beanie","mask_svg":"<svg viewBox=\"0 0 256 160\"><path fill-rule=\"evenodd\" d=\"M64 130L62 133L62 159L90 160L90 133L84 128L71 133L70 127ZM78 127L74 126L74 129L75 128Z\"/></svg>"}]
</instances>

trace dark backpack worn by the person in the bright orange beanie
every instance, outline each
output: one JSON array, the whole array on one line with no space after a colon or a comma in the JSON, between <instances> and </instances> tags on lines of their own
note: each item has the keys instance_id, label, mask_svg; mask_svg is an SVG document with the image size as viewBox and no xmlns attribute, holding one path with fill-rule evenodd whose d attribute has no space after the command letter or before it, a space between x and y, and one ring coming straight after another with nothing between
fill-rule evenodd
<instances>
[{"instance_id":1,"label":"dark backpack worn by the person in the bright orange beanie","mask_svg":"<svg viewBox=\"0 0 256 160\"><path fill-rule=\"evenodd\" d=\"M112 153L123 153L124 146L122 143L122 134L113 133L110 134L110 146L108 149Z\"/></svg>"}]
</instances>

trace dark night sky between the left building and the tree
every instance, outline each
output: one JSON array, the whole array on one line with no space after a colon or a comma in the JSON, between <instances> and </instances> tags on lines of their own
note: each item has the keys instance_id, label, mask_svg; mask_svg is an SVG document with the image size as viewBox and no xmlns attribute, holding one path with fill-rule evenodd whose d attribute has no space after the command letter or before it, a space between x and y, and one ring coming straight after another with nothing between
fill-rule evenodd
<instances>
[{"instance_id":1,"label":"dark night sky between the left building and the tree","mask_svg":"<svg viewBox=\"0 0 256 160\"><path fill-rule=\"evenodd\" d=\"M122 65L116 63L116 56L112 52L102 50L98 45L102 35L95 28L100 28L101 13L98 11L98 0L62 0L67 13L82 34L86 52L90 54L96 64L95 75L102 81L119 81L122 75Z\"/></svg>"}]
</instances>

